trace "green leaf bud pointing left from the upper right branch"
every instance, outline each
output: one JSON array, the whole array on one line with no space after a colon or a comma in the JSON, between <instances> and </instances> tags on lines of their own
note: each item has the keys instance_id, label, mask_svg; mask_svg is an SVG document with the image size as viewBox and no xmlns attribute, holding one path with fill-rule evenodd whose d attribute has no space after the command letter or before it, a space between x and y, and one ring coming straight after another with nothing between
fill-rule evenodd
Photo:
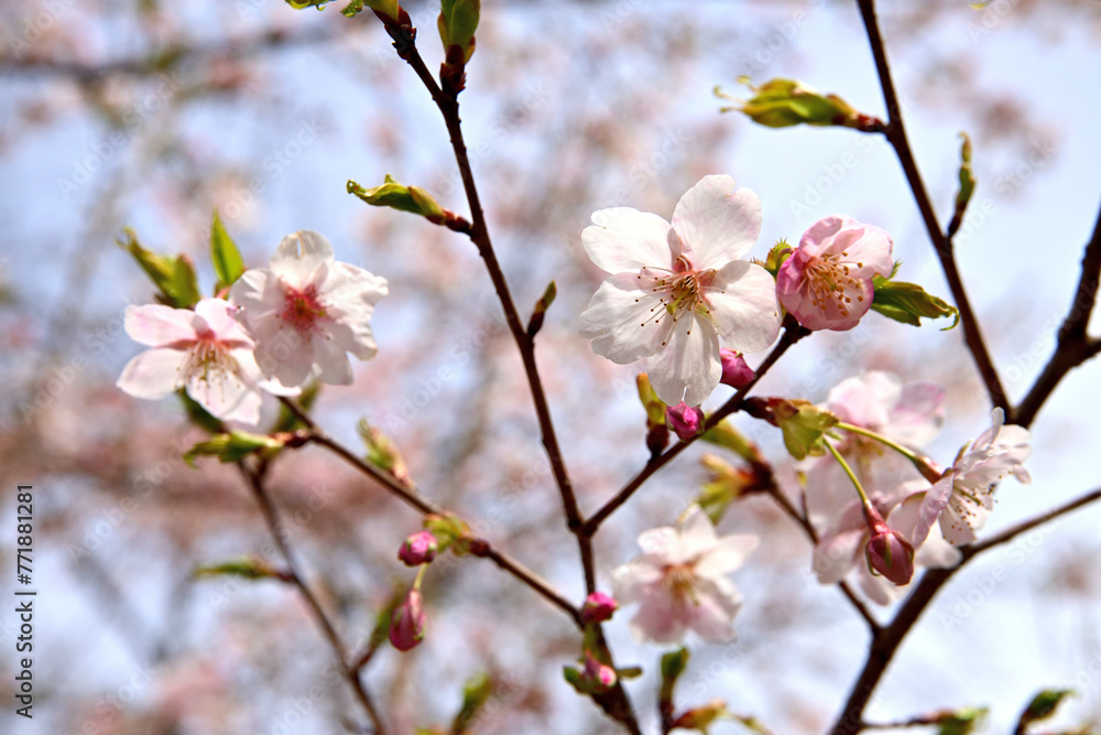
<instances>
[{"instance_id":1,"label":"green leaf bud pointing left from the upper right branch","mask_svg":"<svg viewBox=\"0 0 1101 735\"><path fill-rule=\"evenodd\" d=\"M760 87L753 86L746 76L738 77L738 80L748 86L753 96L741 99L727 95L716 87L717 97L737 102L734 106L721 108L720 111L742 112L757 125L767 128L787 128L806 123L863 129L871 120L837 95L822 95L796 79L770 79Z\"/></svg>"}]
</instances>

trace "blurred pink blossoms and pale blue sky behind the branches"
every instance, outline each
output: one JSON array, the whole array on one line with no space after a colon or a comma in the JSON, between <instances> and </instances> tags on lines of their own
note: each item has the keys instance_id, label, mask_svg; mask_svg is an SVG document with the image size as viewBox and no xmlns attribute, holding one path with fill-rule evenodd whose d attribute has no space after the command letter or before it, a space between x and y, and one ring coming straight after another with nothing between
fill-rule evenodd
<instances>
[{"instance_id":1,"label":"blurred pink blossoms and pale blue sky behind the branches","mask_svg":"<svg viewBox=\"0 0 1101 735\"><path fill-rule=\"evenodd\" d=\"M249 266L308 228L333 241L338 259L389 279L373 320L379 356L357 365L355 386L323 391L318 420L353 447L360 419L382 429L426 495L582 597L520 360L476 250L345 192L349 179L371 186L391 173L467 213L427 93L381 23L369 13L345 19L338 6L0 3L0 559L14 568L15 486L33 484L40 590L33 721L13 714L19 620L14 605L0 605L2 732L334 733L360 717L346 684L315 688L331 682L331 652L294 588L193 576L197 565L243 554L281 560L232 466L181 462L203 434L179 406L115 387L139 352L122 331L123 310L152 300L116 245L124 226L149 248L189 255L207 293L215 207ZM438 68L438 3L403 6L428 67ZM979 188L958 258L1020 400L1054 348L1098 216L1101 3L937 0L879 10L941 221L957 186L959 131L974 142ZM894 236L900 278L949 296L885 141L720 115L712 88L744 91L740 75L795 77L883 115L854 3L483 3L460 98L465 131L521 311L548 281L558 285L538 356L587 514L647 456L637 366L595 356L577 335L603 278L580 248L595 209L668 218L701 176L730 173L764 203L751 255L848 214ZM989 425L990 403L960 331L936 326L871 315L852 332L815 335L757 392L822 401L861 369L937 381L948 390L947 422L930 452L948 464ZM1094 334L1098 326L1094 318ZM1075 370L1042 411L1034 482L1002 486L988 531L1099 484L1090 458L1101 439L1099 369ZM737 423L785 464L774 430ZM695 496L704 451L678 458L602 528L601 586L635 555L641 531L672 523ZM359 644L394 586L412 579L394 552L419 519L320 448L288 455L272 493L323 604ZM1101 726L1099 514L1069 516L957 575L900 650L869 718L990 706L989 732L1007 732L1036 691L1072 688L1080 695L1056 724ZM745 596L739 640L689 639L679 704L723 698L777 734L822 732L863 662L866 631L837 590L815 583L802 531L771 502L739 502L720 526L750 531L764 541L734 576ZM407 655L380 650L366 674L392 732L450 722L462 681L478 671L494 682L479 733L613 729L562 681L578 640L557 610L478 560L434 569L425 585L428 638ZM3 581L13 586L14 570ZM647 670L628 688L646 732L657 732L652 672L664 651L636 646L628 619L610 624L611 642L618 663ZM716 732L723 727L739 732Z\"/></svg>"}]
</instances>

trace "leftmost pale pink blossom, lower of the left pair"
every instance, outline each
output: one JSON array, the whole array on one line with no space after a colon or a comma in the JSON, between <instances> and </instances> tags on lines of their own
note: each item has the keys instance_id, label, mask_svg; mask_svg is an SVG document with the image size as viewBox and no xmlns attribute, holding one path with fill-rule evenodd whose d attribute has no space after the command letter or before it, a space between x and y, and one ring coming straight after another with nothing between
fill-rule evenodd
<instances>
[{"instance_id":1,"label":"leftmost pale pink blossom, lower of the left pair","mask_svg":"<svg viewBox=\"0 0 1101 735\"><path fill-rule=\"evenodd\" d=\"M253 342L237 323L236 307L204 299L195 310L162 304L128 306L124 326L146 349L122 369L118 387L135 398L159 400L184 388L210 415L255 425L261 390L292 394L264 381Z\"/></svg>"}]
</instances>

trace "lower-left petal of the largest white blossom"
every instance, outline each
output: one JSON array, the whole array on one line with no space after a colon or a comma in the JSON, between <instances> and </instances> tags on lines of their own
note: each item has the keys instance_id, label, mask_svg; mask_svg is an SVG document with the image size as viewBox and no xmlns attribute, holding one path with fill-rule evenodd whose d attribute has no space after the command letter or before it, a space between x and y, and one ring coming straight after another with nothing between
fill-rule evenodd
<instances>
[{"instance_id":1,"label":"lower-left petal of the largest white blossom","mask_svg":"<svg viewBox=\"0 0 1101 735\"><path fill-rule=\"evenodd\" d=\"M674 322L661 300L637 284L634 274L612 275L581 313L581 336L592 339L592 352L617 365L630 365L661 352L673 331Z\"/></svg>"}]
</instances>

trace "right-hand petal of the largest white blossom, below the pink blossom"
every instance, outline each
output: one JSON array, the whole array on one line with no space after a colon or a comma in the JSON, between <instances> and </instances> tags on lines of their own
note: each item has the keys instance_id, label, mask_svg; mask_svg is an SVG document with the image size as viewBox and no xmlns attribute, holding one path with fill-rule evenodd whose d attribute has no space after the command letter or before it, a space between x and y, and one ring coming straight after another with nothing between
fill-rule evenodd
<instances>
[{"instance_id":1,"label":"right-hand petal of the largest white blossom, below the pink blossom","mask_svg":"<svg viewBox=\"0 0 1101 735\"><path fill-rule=\"evenodd\" d=\"M780 334L776 282L756 263L735 260L715 274L707 302L716 331L731 349L759 353Z\"/></svg>"}]
</instances>

